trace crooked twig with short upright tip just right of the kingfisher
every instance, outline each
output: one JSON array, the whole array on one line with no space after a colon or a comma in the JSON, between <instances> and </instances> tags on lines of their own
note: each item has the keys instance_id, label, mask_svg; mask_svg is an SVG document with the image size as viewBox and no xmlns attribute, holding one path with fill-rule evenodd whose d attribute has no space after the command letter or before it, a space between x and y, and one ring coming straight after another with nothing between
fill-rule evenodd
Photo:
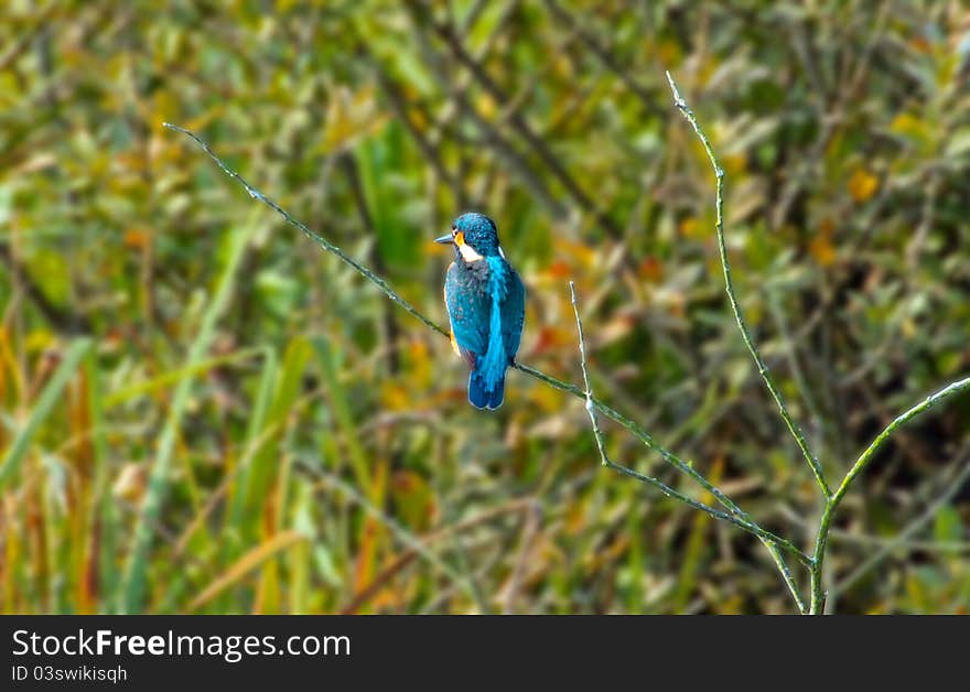
<instances>
[{"instance_id":1,"label":"crooked twig with short upright tip just right of the kingfisher","mask_svg":"<svg viewBox=\"0 0 970 692\"><path fill-rule=\"evenodd\" d=\"M805 602L801 599L801 596L798 593L798 586L795 584L795 580L791 577L791 572L788 570L788 564L785 562L785 559L783 558L782 553L778 550L775 538L769 538L769 536L773 536L773 534L769 534L768 531L765 531L764 529L762 529L758 525L756 525L754 521L752 521L750 518L747 518L746 515L743 515L744 518L741 518L735 515L729 515L729 513L723 512L719 509L714 509L713 507L709 507L708 505L704 505L703 502L698 502L697 500L678 493L677 490L675 490L673 488L671 488L667 484L662 483L661 480L658 480L657 478L654 478L653 476L647 476L645 474L640 474L638 472L633 471L632 468L628 468L626 466L622 466L622 465L616 464L610 459L610 456L606 454L606 447L603 443L603 432L600 430L600 422L596 420L596 407L593 403L593 388L590 385L590 375L586 370L586 339L583 336L583 322L582 322L582 320L580 320L580 311L579 311L579 306L576 304L576 296L575 296L575 284L572 281L569 282L569 293L570 293L570 298L572 300L572 312L575 315L575 321L576 321L576 333L579 334L580 367L582 368L582 371L583 371L583 385L586 388L585 409L586 409L586 413L590 414L590 424L593 428L593 436L596 439L596 450L599 450L599 452L600 452L600 458L602 459L603 466L606 466L607 468L611 468L617 473L624 474L626 476L629 476L632 478L636 478L637 480L640 480L643 483L651 485L651 486L660 489L660 491L664 493L665 495L667 495L668 497L672 497L675 499L678 499L681 502L685 502L685 504L693 507L694 509L699 509L700 511L703 511L703 512L710 515L711 517L714 517L715 519L729 521L729 522L733 523L734 526L743 529L744 531L747 531L748 533L753 533L754 536L757 536L761 539L761 541L765 544L765 547L768 549L768 552L770 553L772 559L775 561L775 564L778 566L778 572L782 574L782 579L785 580L785 584L788 586L788 590L791 592L791 596L795 598L795 604L798 606L799 613L805 614L805 612L806 612ZM802 556L807 558L807 555L802 555Z\"/></svg>"}]
</instances>

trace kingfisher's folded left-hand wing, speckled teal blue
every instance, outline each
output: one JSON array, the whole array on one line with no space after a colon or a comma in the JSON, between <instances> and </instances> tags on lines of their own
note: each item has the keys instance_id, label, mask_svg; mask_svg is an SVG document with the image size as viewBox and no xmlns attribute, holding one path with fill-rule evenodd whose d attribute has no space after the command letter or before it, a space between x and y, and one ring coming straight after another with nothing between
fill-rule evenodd
<instances>
[{"instance_id":1,"label":"kingfisher's folded left-hand wing, speckled teal blue","mask_svg":"<svg viewBox=\"0 0 970 692\"><path fill-rule=\"evenodd\" d=\"M475 360L485 355L488 346L488 323L492 317L492 301L476 273L460 268L452 262L444 279L444 302L451 323L452 340L459 353L475 366Z\"/></svg>"}]
</instances>

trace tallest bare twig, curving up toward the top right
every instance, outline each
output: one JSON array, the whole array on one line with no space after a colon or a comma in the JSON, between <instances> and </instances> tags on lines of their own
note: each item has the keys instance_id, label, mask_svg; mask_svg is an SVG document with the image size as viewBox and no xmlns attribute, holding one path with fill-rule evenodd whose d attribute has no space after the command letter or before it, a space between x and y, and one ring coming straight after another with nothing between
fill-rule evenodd
<instances>
[{"instance_id":1,"label":"tallest bare twig, curving up toward the top right","mask_svg":"<svg viewBox=\"0 0 970 692\"><path fill-rule=\"evenodd\" d=\"M829 484L826 483L826 477L822 473L821 464L819 464L819 461L811 453L811 450L809 450L808 443L805 441L805 435L801 433L801 429L798 426L798 423L795 422L795 419L793 419L791 414L788 412L788 407L785 406L785 400L782 398L782 392L775 385L772 375L768 372L768 366L765 365L765 361L762 358L762 355L751 336L751 331L747 328L747 324L745 323L744 315L741 311L741 305L739 304L737 298L734 293L734 282L731 279L731 263L728 260L728 247L724 242L724 170L718 163L718 159L714 156L714 150L711 149L711 143L708 141L708 138L704 134L704 131L701 129L701 126L698 125L693 111L687 105L687 101L683 100L683 97L680 96L680 91L677 89L677 83L673 80L673 77L670 75L669 72L667 73L667 80L670 83L670 90L673 91L673 105L677 106L678 110L680 110L683 117L687 118L687 121L690 122L693 131L697 132L698 138L701 140L701 144L703 144L704 151L708 153L708 159L710 159L711 161L711 166L713 166L714 169L714 179L716 180L715 228L718 231L718 249L721 253L721 267L724 269L724 289L728 292L728 300L731 302L731 310L734 312L734 321L737 323L737 327L741 329L741 336L744 339L744 345L747 346L747 350L751 353L752 358L754 358L755 365L758 369L758 374L762 376L762 379L765 381L765 386L768 388L768 391L775 399L775 403L778 404L778 411L782 413L782 418L785 420L785 424L788 425L788 430L795 437L795 442L798 444L798 448L801 450L801 454L805 456L805 461L808 462L808 465L809 467L811 467L811 471L815 474L819 487L822 489L822 493L828 499L832 496L832 491L829 488Z\"/></svg>"}]
</instances>

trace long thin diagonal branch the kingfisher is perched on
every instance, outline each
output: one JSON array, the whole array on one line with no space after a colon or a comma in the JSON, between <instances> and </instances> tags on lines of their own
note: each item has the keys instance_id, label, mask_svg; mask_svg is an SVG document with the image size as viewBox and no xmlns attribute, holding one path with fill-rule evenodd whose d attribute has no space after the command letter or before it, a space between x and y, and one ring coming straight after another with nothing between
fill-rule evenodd
<instances>
[{"instance_id":1,"label":"long thin diagonal branch the kingfisher is perched on","mask_svg":"<svg viewBox=\"0 0 970 692\"><path fill-rule=\"evenodd\" d=\"M222 159L219 159L215 154L215 152L213 152L213 150L209 148L209 145L202 138L200 138L197 134L195 134L194 132L186 130L185 128L182 128L177 125L172 125L169 122L165 122L163 125L164 125L164 127L169 128L170 130L174 130L176 132L182 132L183 134L186 134L190 138L192 138L200 147L202 147L202 149L206 152L206 154L208 154L209 159L212 159L224 173L226 173L228 176L236 180L240 185L242 185L244 188L246 188L246 192L249 194L250 197L252 197L254 199L257 199L259 202L262 202L263 204L266 204L267 206L272 208L274 212L280 214L280 216L282 216L287 220L287 223L299 228L308 238L310 238L311 240L316 242L321 248L323 248L327 252L332 252L333 255L336 255L341 260L343 260L344 262L346 262L347 264L353 267L355 270L357 270L357 272L363 274L364 278L366 278L371 283L374 283L378 289L380 289L381 292L385 295L387 295L391 301L394 301L395 303L397 303L398 305L403 307L411 315L413 315L416 318L421 321L425 326L430 327L432 331L441 334L442 336L449 336L449 333L443 327L439 326L435 322L433 322L429 317L425 317L413 305L411 305L411 303L409 303L408 301L402 299L400 295L398 295L390 288L390 285L388 285L388 283L384 279L381 279L379 275L375 274L373 271L370 271L369 269L367 269L366 267L364 267L363 264L360 264L359 262L357 262L356 260L351 258L348 255L346 255L338 247L336 247L335 245L330 242L326 238L324 238L323 236L320 236L319 234L316 234L313 230L311 230L310 228L308 228L305 224L293 218L285 209L283 209L281 206L279 206L276 202L273 202L272 199L267 197L265 194L262 194L261 192L256 190L252 185L250 185L246 181L246 179L244 179L236 171L234 171L228 165L226 165L226 163ZM703 487L705 490L710 491L711 495L713 495L718 499L719 502L721 502L724 507L726 507L730 510L730 513L722 512L720 510L708 507L707 505L698 502L697 500L693 500L693 499L687 497L686 495L682 495L682 494L678 493L677 490L673 490L672 488L668 487L667 485L660 483L659 480L656 480L655 478L650 478L649 476L643 476L642 474L638 474L637 472L625 468L623 466L616 467L615 471L618 471L619 473L623 473L623 474L626 474L626 475L629 475L633 477L637 477L638 479L643 480L644 483L649 483L651 485L656 485L658 488L660 488L665 494L669 495L670 497L675 497L677 499L680 499L681 501L690 505L691 507L694 507L696 509L707 511L708 513L710 513L713 517L716 517L716 518L722 519L724 521L729 521L730 523L733 523L733 525L737 526L739 528L747 531L748 533L753 533L753 534L757 536L758 538L763 538L765 540L772 541L773 543L777 544L779 548L794 554L798 559L798 561L801 562L802 564L805 564L806 566L810 567L812 565L811 558L809 558L802 551L800 551L794 543L791 543L791 541L783 539L782 537L776 536L776 534L772 533L770 531L766 531L765 529L762 529L756 523L754 523L750 519L750 517L744 511L742 511L737 507L737 505L734 504L733 500L731 500L726 495L724 495L724 493L722 493L718 487L715 487L713 484L711 484L711 482L708 480L702 474L697 472L689 463L685 462L679 456L677 456L676 454L673 454L672 452L670 452L669 450L664 447L659 442L657 442L654 439L653 435L650 435L646 430L644 430L640 425L638 425L637 423L635 423L630 419L626 418L622 413L618 413L617 411L614 411L612 408L610 408L608 406L606 406L602 401L594 399L592 396L590 396L588 398L586 392L583 391L582 389L580 389L579 387L576 387L575 385L564 382L564 381L557 379L550 375L546 375L541 370L537 370L536 368L529 367L529 366L520 364L520 363L513 364L513 367L515 367L520 372L525 372L526 375L535 377L536 379L541 380L541 381L546 382L547 385L550 385L551 387L554 387L556 389L572 393L575 397L579 397L581 399L590 401L596 410L599 410L604 415L612 419L613 421L615 421L619 425L627 429L634 435L636 435L649 450L657 452L668 464L670 464L671 466L673 466L675 468L677 468L681 473L690 476L701 487ZM659 484L659 485L657 485L657 484Z\"/></svg>"}]
</instances>

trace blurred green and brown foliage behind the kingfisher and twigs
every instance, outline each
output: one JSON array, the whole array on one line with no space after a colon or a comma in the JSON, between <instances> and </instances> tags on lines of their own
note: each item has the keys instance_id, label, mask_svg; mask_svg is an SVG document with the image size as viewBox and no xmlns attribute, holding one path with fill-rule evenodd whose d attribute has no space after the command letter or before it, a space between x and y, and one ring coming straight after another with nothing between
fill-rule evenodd
<instances>
[{"instance_id":1,"label":"blurred green and brown foliage behind the kingfisher and twigs","mask_svg":"<svg viewBox=\"0 0 970 692\"><path fill-rule=\"evenodd\" d=\"M439 323L432 239L485 212L527 285L519 359L580 381L574 280L597 396L808 549L818 489L664 71L834 482L970 371L970 11L718 4L4 2L2 609L794 612L751 536L601 468L581 400L510 371L472 409L444 338L162 128ZM968 417L917 419L859 479L829 609L967 612Z\"/></svg>"}]
</instances>

